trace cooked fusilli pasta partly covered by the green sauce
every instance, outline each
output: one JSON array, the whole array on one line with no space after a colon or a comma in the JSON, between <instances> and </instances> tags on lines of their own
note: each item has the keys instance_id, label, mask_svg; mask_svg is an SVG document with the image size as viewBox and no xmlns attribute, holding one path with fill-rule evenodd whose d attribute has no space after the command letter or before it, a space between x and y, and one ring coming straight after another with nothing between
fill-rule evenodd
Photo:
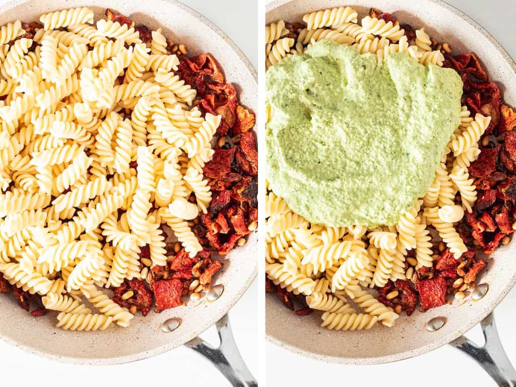
<instances>
[{"instance_id":1,"label":"cooked fusilli pasta partly covered by the green sauce","mask_svg":"<svg viewBox=\"0 0 516 387\"><path fill-rule=\"evenodd\" d=\"M442 65L442 53L431 51L430 38L423 28L416 31L415 45L408 45L398 25L366 17L360 26L356 24L357 16L350 7L306 14L303 21L307 28L299 32L295 47L294 39L282 38L289 34L283 21L267 26L267 65L302 52L305 44L320 39L351 44L361 53L373 53L379 59L406 52L424 65ZM471 117L470 111L462 107L461 123L443 151L433 183L394 225L367 229L360 224L349 228L313 224L268 190L267 277L288 292L306 296L310 308L323 311L323 327L392 327L399 314L367 289L383 287L389 280L410 280L415 270L431 267L438 257L432 251L434 241L443 241L456 259L467 250L454 223L462 219L464 211L471 212L476 201L476 188L467 168L480 153L478 140L490 121L491 117L480 114ZM427 225L432 225L438 235L432 237ZM408 257L409 250L415 250L415 258Z\"/></svg>"}]
</instances>

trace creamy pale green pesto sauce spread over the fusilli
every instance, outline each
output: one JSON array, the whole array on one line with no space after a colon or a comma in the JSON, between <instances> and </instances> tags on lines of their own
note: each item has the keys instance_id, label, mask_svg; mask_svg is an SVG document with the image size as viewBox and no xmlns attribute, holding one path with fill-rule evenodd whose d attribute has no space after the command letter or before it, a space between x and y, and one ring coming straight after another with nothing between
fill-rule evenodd
<instances>
[{"instance_id":1,"label":"creamy pale green pesto sauce spread over the fusilli","mask_svg":"<svg viewBox=\"0 0 516 387\"><path fill-rule=\"evenodd\" d=\"M460 122L462 81L405 54L330 41L266 74L267 179L294 212L332 227L394 224L424 196Z\"/></svg>"}]
</instances>

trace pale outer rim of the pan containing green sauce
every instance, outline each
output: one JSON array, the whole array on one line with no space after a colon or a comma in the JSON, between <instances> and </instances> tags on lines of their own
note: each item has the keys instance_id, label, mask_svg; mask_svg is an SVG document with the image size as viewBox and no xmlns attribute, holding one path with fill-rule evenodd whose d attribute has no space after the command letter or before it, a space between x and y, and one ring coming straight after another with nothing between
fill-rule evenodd
<instances>
[{"instance_id":1,"label":"pale outer rim of the pan containing green sauce","mask_svg":"<svg viewBox=\"0 0 516 387\"><path fill-rule=\"evenodd\" d=\"M266 15L267 13L285 5L288 3L292 3L294 0L275 0L271 3L268 3L265 7ZM464 20L466 23L470 24L473 28L479 31L480 34L482 34L484 37L486 37L489 42L496 48L496 50L502 55L504 60L507 62L507 64L511 67L512 71L516 73L516 63L514 62L514 59L509 55L509 53L504 49L501 43L499 43L485 28L483 28L478 22L473 20L471 17L469 17L467 14L459 10L458 8L449 5L448 3L442 1L442 0L426 0L428 3L433 3L435 5L438 5L452 13L454 13L458 18ZM514 241L513 243L516 243ZM408 351L402 351L396 354L389 354L384 356L377 356L377 357L370 357L370 358L348 358L348 357L341 357L341 356L329 356L329 355L323 355L316 352L307 351L305 349L302 349L296 345L288 344L283 342L282 340L279 340L272 334L268 332L267 326L265 327L265 337L269 343L272 343L276 346L279 346L281 348L285 348L291 352L300 354L303 357L311 358L311 359L317 359L320 361L324 361L327 363L338 363L338 364L349 364L349 365L373 365L373 364L384 364L384 363L392 363L395 361L410 359L416 356L420 356L421 354L430 352L434 349L440 348L446 344L449 344L451 341L455 340L457 337L461 336L462 334L466 333L467 331L471 330L474 326L476 326L481 320L486 318L493 310L496 308L496 306L502 302L502 300L507 296L507 294L510 292L512 287L516 284L516 273L513 274L511 280L502 287L502 290L498 297L496 297L490 304L487 305L487 308L483 309L482 313L478 314L474 319L467 320L466 324L464 324L460 329L454 331L453 333L450 333L446 336L443 336L439 338L439 340L436 340L430 344L422 345L420 347L417 347L415 349L411 349ZM267 304L267 298L266 298L266 304ZM266 308L267 313L267 308Z\"/></svg>"}]
</instances>

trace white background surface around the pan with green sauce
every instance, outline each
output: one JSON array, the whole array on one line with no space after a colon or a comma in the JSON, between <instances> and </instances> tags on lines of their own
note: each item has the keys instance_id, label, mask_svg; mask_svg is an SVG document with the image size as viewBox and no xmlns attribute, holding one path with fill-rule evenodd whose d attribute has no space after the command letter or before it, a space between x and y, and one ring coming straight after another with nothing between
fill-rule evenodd
<instances>
[{"instance_id":1,"label":"white background surface around the pan with green sauce","mask_svg":"<svg viewBox=\"0 0 516 387\"><path fill-rule=\"evenodd\" d=\"M449 4L468 14L497 39L516 58L516 35L513 0L448 0ZM335 1L335 6L345 4ZM516 258L516 257L515 257ZM496 324L502 342L513 364L516 364L514 309L516 288L498 305ZM482 344L479 327L467 336ZM371 366L327 364L266 344L267 386L281 385L368 385L396 387L436 387L462 385L491 387L495 383L475 362L451 346L444 346L423 356L396 363ZM359 384L360 383L360 384Z\"/></svg>"}]
</instances>

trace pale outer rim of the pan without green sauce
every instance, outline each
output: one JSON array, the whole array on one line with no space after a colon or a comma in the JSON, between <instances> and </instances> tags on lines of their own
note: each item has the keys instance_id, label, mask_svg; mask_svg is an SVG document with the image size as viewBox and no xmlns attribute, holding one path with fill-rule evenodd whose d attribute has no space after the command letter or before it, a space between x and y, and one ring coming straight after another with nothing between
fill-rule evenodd
<instances>
[{"instance_id":1,"label":"pale outer rim of the pan without green sauce","mask_svg":"<svg viewBox=\"0 0 516 387\"><path fill-rule=\"evenodd\" d=\"M3 14L5 12L10 11L14 7L17 7L19 5L22 5L24 3L28 3L33 0L11 0L8 3L5 3L4 5L0 6L0 14ZM164 3L170 3L175 5L176 7L182 9L183 11L189 13L192 15L192 17L196 18L199 22L204 24L206 27L208 27L213 33L215 33L219 38L221 38L225 44L228 45L228 48L233 51L234 54L238 57L240 62L244 65L245 69L247 70L247 74L249 74L252 78L252 81L256 88L258 87L258 74L257 71L254 69L254 67L251 65L251 62L246 57L246 55L239 49L239 47L236 45L233 40L228 37L227 34L225 34L217 25L215 25L212 21L207 19L204 15L197 12L196 10L186 6L185 4L181 3L178 0L161 0ZM256 109L256 108L254 108ZM238 251L238 250L235 250ZM177 348L186 342L192 340L192 338L195 338L199 336L202 332L204 332L209 327L213 326L218 320L220 320L225 314L227 314L233 306L238 302L238 300L244 295L244 293L247 291L251 283L254 281L254 279L257 277L258 274L258 267L259 262L257 260L253 260L252 262L253 270L250 271L249 275L247 276L245 280L245 285L238 289L237 292L235 292L235 295L231 298L231 300L228 302L228 308L227 309L221 309L218 313L214 313L212 318L206 319L204 324L202 324L202 329L199 331L192 331L189 332L186 335L183 335L181 340L179 341L171 341L169 344L155 347L149 350L145 351L139 351L134 352L131 354L127 354L124 356L112 356L107 358L88 358L88 357L76 357L76 356L60 356L58 354L54 353L48 353L45 351L42 351L38 349L35 346L31 345L25 345L21 344L15 340L12 340L10 337L6 336L4 333L0 331L0 340L20 349L23 349L24 351L35 354L36 356L39 356L41 358L49 359L58 361L61 363L68 363L68 364L77 364L77 365L116 365L116 364L124 364L124 363L131 363L138 360L148 359L154 356L157 356L159 354L168 352L174 348Z\"/></svg>"}]
</instances>

